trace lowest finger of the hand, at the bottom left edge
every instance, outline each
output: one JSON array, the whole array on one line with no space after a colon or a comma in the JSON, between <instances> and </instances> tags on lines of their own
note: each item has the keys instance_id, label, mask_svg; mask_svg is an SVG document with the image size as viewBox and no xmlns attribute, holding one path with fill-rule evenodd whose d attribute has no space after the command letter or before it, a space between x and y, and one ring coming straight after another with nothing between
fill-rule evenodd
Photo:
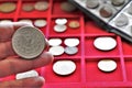
<instances>
[{"instance_id":1,"label":"lowest finger of the hand, at the bottom left edge","mask_svg":"<svg viewBox=\"0 0 132 88\"><path fill-rule=\"evenodd\" d=\"M41 88L44 81L43 77L30 77L18 80L1 81L0 88Z\"/></svg>"}]
</instances>

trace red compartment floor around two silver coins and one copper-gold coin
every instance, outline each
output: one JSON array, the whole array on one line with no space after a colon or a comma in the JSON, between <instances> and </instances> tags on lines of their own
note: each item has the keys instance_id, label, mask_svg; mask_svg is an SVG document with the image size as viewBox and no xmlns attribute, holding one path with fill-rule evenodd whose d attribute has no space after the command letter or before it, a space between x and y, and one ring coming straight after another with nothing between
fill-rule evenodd
<instances>
[{"instance_id":1,"label":"red compartment floor around two silver coins and one copper-gold coin","mask_svg":"<svg viewBox=\"0 0 132 88\"><path fill-rule=\"evenodd\" d=\"M65 24L66 25L66 31L64 32L55 32L54 31L54 26L56 25L55 23L55 20L56 19L67 19L67 23ZM78 21L80 23L80 19L79 18L54 18L52 19L52 22L51 22L51 28L50 28L50 35L80 35L81 34L81 24L78 29L72 29L68 26L69 22L70 21Z\"/></svg>"}]
</instances>

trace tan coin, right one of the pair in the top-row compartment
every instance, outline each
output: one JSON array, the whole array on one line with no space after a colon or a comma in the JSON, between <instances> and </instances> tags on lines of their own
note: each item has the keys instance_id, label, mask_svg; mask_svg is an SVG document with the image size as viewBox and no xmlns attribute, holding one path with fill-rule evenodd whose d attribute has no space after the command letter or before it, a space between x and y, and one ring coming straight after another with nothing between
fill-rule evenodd
<instances>
[{"instance_id":1,"label":"tan coin, right one of the pair in the top-row compartment","mask_svg":"<svg viewBox=\"0 0 132 88\"><path fill-rule=\"evenodd\" d=\"M47 1L37 1L34 4L35 10L38 10L38 11L45 11L48 9L48 7L50 7L50 4Z\"/></svg>"}]
</instances>

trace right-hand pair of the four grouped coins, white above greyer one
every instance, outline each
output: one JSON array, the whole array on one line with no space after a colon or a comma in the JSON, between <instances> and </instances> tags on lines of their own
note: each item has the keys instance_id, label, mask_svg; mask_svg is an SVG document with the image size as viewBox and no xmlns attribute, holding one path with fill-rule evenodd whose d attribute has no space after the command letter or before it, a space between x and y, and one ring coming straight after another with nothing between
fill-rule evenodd
<instances>
[{"instance_id":1,"label":"right-hand pair of the four grouped coins, white above greyer one","mask_svg":"<svg viewBox=\"0 0 132 88\"><path fill-rule=\"evenodd\" d=\"M77 47L79 45L78 38L65 38L64 44L66 45L65 53L67 55L75 55L78 53Z\"/></svg>"}]
</instances>

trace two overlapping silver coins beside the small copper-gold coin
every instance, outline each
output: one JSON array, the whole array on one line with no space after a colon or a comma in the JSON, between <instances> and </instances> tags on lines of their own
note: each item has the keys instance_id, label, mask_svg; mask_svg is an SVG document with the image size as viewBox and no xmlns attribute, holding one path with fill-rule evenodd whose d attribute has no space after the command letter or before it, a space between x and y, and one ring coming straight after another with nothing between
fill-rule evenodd
<instances>
[{"instance_id":1,"label":"two overlapping silver coins beside the small copper-gold coin","mask_svg":"<svg viewBox=\"0 0 132 88\"><path fill-rule=\"evenodd\" d=\"M56 19L55 23L56 23L56 25L54 26L55 32L62 33L67 30L67 26L66 26L67 19Z\"/></svg>"}]
</instances>

